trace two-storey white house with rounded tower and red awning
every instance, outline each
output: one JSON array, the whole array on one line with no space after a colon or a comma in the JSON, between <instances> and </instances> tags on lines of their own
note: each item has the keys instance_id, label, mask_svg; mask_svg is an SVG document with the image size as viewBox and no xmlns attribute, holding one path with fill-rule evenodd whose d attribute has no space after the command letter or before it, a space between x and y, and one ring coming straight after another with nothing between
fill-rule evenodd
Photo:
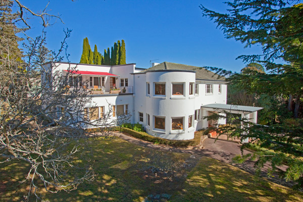
<instances>
[{"instance_id":1,"label":"two-storey white house with rounded tower and red awning","mask_svg":"<svg viewBox=\"0 0 303 202\"><path fill-rule=\"evenodd\" d=\"M102 118L110 103L113 119L119 114L131 115L131 123L140 123L148 134L167 139L192 139L196 130L226 123L225 119L202 118L210 113L229 110L257 123L257 111L262 109L226 105L225 79L194 66L164 62L141 69L135 64L105 66L60 62L53 67L46 63L44 67L46 71L59 71L62 75L70 67L76 67L77 71L71 73L80 74L80 81L70 77L70 87L88 81L87 86L82 87L91 90L87 95L91 96L87 109L98 107L95 118Z\"/></svg>"}]
</instances>

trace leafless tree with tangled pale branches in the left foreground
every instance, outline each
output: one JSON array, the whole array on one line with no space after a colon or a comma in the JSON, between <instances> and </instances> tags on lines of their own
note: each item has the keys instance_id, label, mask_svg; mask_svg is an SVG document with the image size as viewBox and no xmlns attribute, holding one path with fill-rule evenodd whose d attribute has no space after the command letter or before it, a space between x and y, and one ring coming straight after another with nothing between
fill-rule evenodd
<instances>
[{"instance_id":1,"label":"leafless tree with tangled pale branches in the left foreground","mask_svg":"<svg viewBox=\"0 0 303 202\"><path fill-rule=\"evenodd\" d=\"M16 36L21 29L15 23L21 20L30 28L23 17L24 10L40 17L43 26L49 24L45 16L54 16L44 13L45 10L35 14L19 1L16 3L21 13L12 13L12 1L0 3L0 165L26 162L27 174L21 183L29 185L25 196L29 200L33 194L40 198L41 188L49 192L68 191L83 181L92 181L95 176L92 162L80 167L74 161L75 155L85 148L83 144L87 141L82 138L93 135L84 129L101 128L98 135L108 136L109 127L117 125L119 119L111 119L109 106L108 113L91 121L84 110L91 99L88 91L77 85L67 88L71 73L63 76L56 71L63 55L68 60L66 40L71 30L65 31L57 53L45 47L44 31L39 37L27 37L21 53L17 44L21 39ZM46 62L54 71L45 68ZM77 175L76 169L84 172Z\"/></svg>"}]
</instances>

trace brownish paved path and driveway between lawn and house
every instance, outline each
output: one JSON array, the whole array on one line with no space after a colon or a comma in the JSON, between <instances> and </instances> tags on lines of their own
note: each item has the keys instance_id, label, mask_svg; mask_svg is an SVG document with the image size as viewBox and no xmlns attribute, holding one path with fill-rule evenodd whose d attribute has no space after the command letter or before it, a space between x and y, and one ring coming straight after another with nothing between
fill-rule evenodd
<instances>
[{"instance_id":1,"label":"brownish paved path and driveway between lawn and house","mask_svg":"<svg viewBox=\"0 0 303 202\"><path fill-rule=\"evenodd\" d=\"M115 136L120 137L128 142L132 142L134 144L144 146L147 148L152 148L152 149L158 149L158 150L165 150L165 151L172 151L172 152L177 152L177 153L184 153L184 154L191 154L197 156L197 158L200 157L210 157L216 160L219 160L221 162L231 164L233 166L236 166L248 173L255 174L255 166L254 162L252 161L246 161L243 164L234 164L232 163L232 158L235 157L236 155L241 154L240 150L240 144L236 142L230 142L230 141L225 141L225 140L216 140L214 138L207 138L203 142L203 149L179 149L167 145L155 145L151 142L143 141L136 139L134 137L125 135L121 132L114 132ZM243 150L243 154L248 154L250 153L247 150ZM267 176L267 169L269 168L269 164L266 164L265 167L262 169L261 176L275 182L277 184L281 184L284 186L291 187L294 185L294 183L291 182L286 182L284 179L280 179L277 175L274 177L268 177ZM282 170L286 170L286 166L283 166Z\"/></svg>"}]
</instances>

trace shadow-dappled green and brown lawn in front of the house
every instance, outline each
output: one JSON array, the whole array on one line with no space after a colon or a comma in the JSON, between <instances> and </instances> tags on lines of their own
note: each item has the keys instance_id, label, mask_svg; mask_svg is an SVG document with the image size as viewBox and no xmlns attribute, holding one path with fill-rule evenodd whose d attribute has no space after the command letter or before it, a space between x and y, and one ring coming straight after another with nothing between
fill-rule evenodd
<instances>
[{"instance_id":1,"label":"shadow-dappled green and brown lawn in front of the house","mask_svg":"<svg viewBox=\"0 0 303 202\"><path fill-rule=\"evenodd\" d=\"M142 201L150 194L167 194L172 195L170 201L303 201L302 192L257 180L238 168L214 159L194 159L188 154L150 150L119 138L90 141L89 148L75 161L85 164L85 158L94 162L96 179L92 183L84 182L69 193L41 192L45 199ZM149 166L161 167L169 172L157 172L155 175L144 169ZM20 201L26 194L25 184L18 183L26 169L26 165L17 162L0 168L1 201Z\"/></svg>"}]
</instances>

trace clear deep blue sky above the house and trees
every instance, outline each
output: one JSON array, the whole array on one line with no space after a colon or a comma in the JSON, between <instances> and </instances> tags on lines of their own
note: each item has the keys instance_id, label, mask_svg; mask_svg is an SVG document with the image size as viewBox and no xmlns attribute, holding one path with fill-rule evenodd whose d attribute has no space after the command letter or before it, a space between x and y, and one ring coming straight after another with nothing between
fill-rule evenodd
<instances>
[{"instance_id":1,"label":"clear deep blue sky above the house and trees","mask_svg":"<svg viewBox=\"0 0 303 202\"><path fill-rule=\"evenodd\" d=\"M48 1L21 0L33 11L43 9ZM125 40L126 62L148 68L154 62L173 62L193 66L212 66L240 71L245 64L235 60L239 55L260 53L260 47L244 48L233 39L224 38L216 24L202 17L199 5L226 11L223 1L208 0L51 0L49 13L61 15L65 24L57 22L46 29L47 47L56 50L64 37L63 29L72 29L68 39L70 61L78 63L83 38L87 37L98 52ZM32 21L27 34L37 36L39 24ZM53 21L54 22L54 21ZM66 61L66 60L65 60Z\"/></svg>"}]
</instances>

